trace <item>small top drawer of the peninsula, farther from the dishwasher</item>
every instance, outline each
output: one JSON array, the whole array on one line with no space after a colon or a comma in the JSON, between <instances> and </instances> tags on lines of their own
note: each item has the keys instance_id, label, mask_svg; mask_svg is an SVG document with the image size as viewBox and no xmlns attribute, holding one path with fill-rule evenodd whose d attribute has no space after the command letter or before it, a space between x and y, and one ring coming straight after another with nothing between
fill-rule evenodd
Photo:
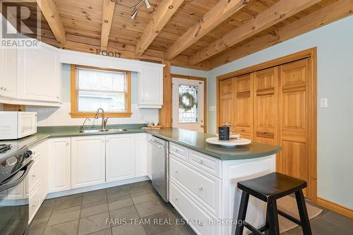
<instances>
[{"instance_id":1,"label":"small top drawer of the peninsula, farther from the dishwasher","mask_svg":"<svg viewBox=\"0 0 353 235\"><path fill-rule=\"evenodd\" d=\"M221 169L222 162L220 159L216 159L215 157L210 157L208 155L203 155L201 152L196 152L190 150L189 162L195 167L199 169L203 169L204 171L221 178Z\"/></svg>"}]
</instances>

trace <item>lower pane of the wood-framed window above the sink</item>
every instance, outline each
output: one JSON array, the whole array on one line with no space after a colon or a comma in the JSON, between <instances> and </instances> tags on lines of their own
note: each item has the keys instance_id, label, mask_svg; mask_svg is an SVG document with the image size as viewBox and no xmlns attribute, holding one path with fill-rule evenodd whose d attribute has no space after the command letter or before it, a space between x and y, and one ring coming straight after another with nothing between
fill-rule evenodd
<instances>
[{"instance_id":1,"label":"lower pane of the wood-framed window above the sink","mask_svg":"<svg viewBox=\"0 0 353 235\"><path fill-rule=\"evenodd\" d=\"M125 112L125 94L107 92L78 92L78 112L96 112L102 108L105 112Z\"/></svg>"}]
</instances>

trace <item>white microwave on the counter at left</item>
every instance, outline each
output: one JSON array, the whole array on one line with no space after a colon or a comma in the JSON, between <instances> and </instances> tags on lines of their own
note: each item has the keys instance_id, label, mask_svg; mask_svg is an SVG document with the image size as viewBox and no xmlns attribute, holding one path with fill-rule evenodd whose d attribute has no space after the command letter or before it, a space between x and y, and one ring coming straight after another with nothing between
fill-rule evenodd
<instances>
[{"instance_id":1,"label":"white microwave on the counter at left","mask_svg":"<svg viewBox=\"0 0 353 235\"><path fill-rule=\"evenodd\" d=\"M0 140L20 139L35 133L36 112L0 112Z\"/></svg>"}]
</instances>

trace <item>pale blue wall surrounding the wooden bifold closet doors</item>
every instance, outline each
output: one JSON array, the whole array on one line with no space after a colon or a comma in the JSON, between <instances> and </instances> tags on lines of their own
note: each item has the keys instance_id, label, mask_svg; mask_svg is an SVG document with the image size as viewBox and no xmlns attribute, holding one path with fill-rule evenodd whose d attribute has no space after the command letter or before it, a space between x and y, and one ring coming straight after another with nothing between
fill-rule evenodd
<instances>
[{"instance_id":1,"label":"pale blue wall surrounding the wooden bifold closet doors","mask_svg":"<svg viewBox=\"0 0 353 235\"><path fill-rule=\"evenodd\" d=\"M216 76L317 47L318 196L353 209L353 16L261 52L217 67L208 73L208 106L216 104ZM208 113L208 131L215 133L216 112Z\"/></svg>"}]
</instances>

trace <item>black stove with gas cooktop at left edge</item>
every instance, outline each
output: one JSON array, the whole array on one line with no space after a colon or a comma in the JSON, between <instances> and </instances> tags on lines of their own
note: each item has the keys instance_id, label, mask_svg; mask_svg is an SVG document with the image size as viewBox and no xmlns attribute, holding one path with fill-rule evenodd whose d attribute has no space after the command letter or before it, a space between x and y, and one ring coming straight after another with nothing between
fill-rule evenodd
<instances>
[{"instance_id":1,"label":"black stove with gas cooktop at left edge","mask_svg":"<svg viewBox=\"0 0 353 235\"><path fill-rule=\"evenodd\" d=\"M0 145L0 234L23 235L28 227L29 199L26 176L32 167L28 147ZM18 188L18 189L17 189ZM13 197L11 191L23 192Z\"/></svg>"}]
</instances>

